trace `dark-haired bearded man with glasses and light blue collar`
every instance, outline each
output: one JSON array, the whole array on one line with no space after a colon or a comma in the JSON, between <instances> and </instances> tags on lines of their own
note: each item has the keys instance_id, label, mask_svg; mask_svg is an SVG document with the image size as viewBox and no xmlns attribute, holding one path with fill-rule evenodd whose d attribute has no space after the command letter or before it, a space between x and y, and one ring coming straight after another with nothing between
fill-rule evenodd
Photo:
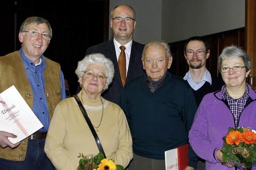
<instances>
[{"instance_id":1,"label":"dark-haired bearded man with glasses and light blue collar","mask_svg":"<svg viewBox=\"0 0 256 170\"><path fill-rule=\"evenodd\" d=\"M184 46L184 56L187 60L189 71L184 80L192 87L196 103L199 106L204 95L220 90L223 83L211 76L206 69L206 59L210 56L208 42L202 37L191 37ZM199 159L197 170L204 170L204 160Z\"/></svg>"}]
</instances>

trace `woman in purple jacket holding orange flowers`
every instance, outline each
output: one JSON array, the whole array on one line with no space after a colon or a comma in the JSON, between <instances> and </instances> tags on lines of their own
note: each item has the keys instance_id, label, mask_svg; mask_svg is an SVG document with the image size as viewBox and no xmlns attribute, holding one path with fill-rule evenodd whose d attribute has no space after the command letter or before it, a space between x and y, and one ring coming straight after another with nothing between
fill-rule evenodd
<instances>
[{"instance_id":1,"label":"woman in purple jacket holding orange flowers","mask_svg":"<svg viewBox=\"0 0 256 170\"><path fill-rule=\"evenodd\" d=\"M229 127L256 129L256 92L246 83L251 68L248 54L232 45L218 58L218 69L225 85L220 91L204 96L189 132L194 152L206 160L206 170L234 170L223 163L222 137ZM256 166L252 167L255 170Z\"/></svg>"}]
</instances>

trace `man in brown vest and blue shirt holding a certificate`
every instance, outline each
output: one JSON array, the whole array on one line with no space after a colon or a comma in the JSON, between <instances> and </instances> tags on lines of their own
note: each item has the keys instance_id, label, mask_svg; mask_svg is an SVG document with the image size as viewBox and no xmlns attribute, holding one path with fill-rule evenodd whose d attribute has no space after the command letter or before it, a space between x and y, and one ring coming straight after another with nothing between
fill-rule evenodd
<instances>
[{"instance_id":1,"label":"man in brown vest and blue shirt holding a certificate","mask_svg":"<svg viewBox=\"0 0 256 170\"><path fill-rule=\"evenodd\" d=\"M44 153L44 142L53 111L66 94L60 65L43 56L52 29L44 18L29 17L18 37L21 49L0 57L0 93L14 85L44 127L16 144L8 140L15 134L0 131L0 169L54 169Z\"/></svg>"}]
</instances>

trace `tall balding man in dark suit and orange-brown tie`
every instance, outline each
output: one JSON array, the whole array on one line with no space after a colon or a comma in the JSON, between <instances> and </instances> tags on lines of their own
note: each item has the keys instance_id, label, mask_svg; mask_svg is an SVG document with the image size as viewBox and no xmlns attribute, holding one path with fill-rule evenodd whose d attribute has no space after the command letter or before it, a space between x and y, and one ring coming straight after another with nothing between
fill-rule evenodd
<instances>
[{"instance_id":1,"label":"tall balding man in dark suit and orange-brown tie","mask_svg":"<svg viewBox=\"0 0 256 170\"><path fill-rule=\"evenodd\" d=\"M132 40L136 28L136 16L131 6L125 4L115 6L111 11L110 27L114 38L89 47L86 50L86 55L102 53L112 60L115 69L113 83L102 95L105 99L118 104L125 83L139 77L144 72L141 63L144 45ZM124 46L125 49L121 50L121 46ZM124 55L124 60L120 61Z\"/></svg>"}]
</instances>

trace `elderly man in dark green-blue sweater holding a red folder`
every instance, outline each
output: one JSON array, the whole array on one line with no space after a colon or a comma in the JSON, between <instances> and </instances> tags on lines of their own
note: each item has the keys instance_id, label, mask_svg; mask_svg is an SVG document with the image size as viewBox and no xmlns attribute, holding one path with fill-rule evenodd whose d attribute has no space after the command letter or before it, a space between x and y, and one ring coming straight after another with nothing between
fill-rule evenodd
<instances>
[{"instance_id":1,"label":"elderly man in dark green-blue sweater holding a red folder","mask_svg":"<svg viewBox=\"0 0 256 170\"><path fill-rule=\"evenodd\" d=\"M165 169L164 151L188 142L188 131L196 113L192 89L167 69L172 64L169 45L156 40L142 53L145 75L126 84L120 105L132 133L132 170ZM193 170L197 156L189 148L186 170Z\"/></svg>"}]
</instances>

